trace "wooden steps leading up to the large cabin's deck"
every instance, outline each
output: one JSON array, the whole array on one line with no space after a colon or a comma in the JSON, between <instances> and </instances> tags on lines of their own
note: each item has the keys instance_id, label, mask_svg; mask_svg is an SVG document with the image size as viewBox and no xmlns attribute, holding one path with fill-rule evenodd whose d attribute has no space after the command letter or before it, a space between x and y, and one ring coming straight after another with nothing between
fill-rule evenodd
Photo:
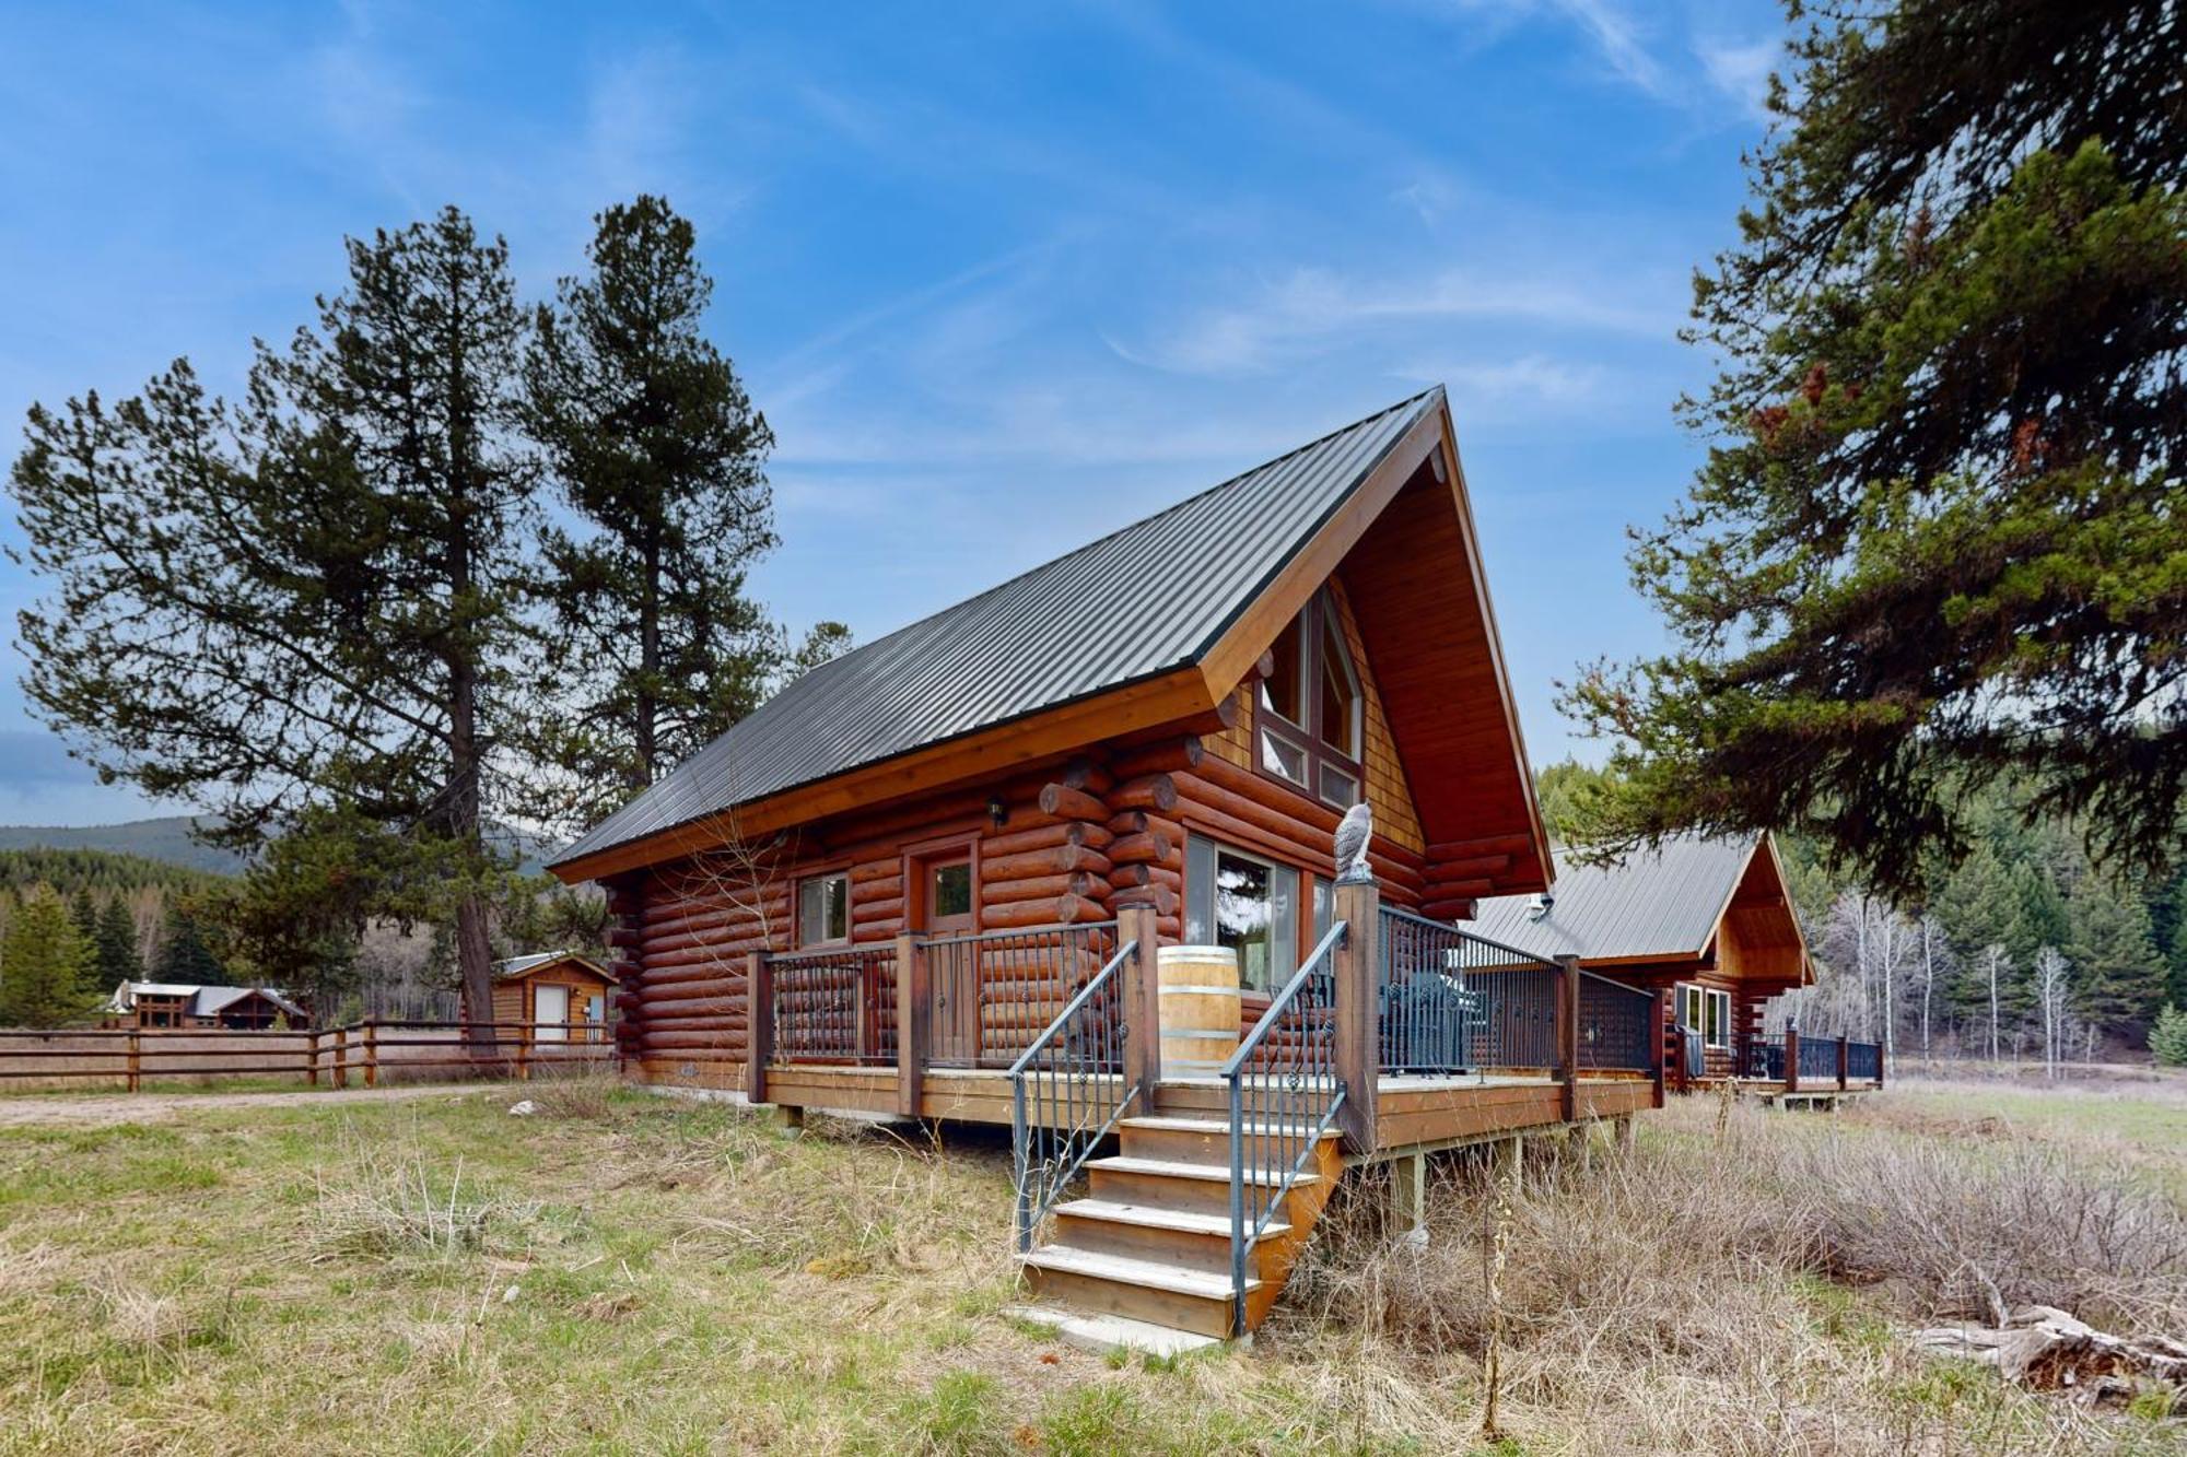
<instances>
[{"instance_id":1,"label":"wooden steps leading up to the large cabin's deck","mask_svg":"<svg viewBox=\"0 0 2187 1457\"><path fill-rule=\"evenodd\" d=\"M1251 1129L1249 1129L1251 1131ZM1220 1083L1163 1083L1155 1109L1118 1124L1120 1149L1091 1159L1087 1194L1052 1210L1048 1240L1019 1256L1052 1317L1094 1321L1113 1345L1166 1348L1161 1332L1227 1339L1236 1310L1229 1216L1229 1107ZM1343 1173L1325 1133L1247 1251L1244 1332L1268 1315ZM1279 1181L1279 1175L1262 1175ZM1028 1310L1034 1319L1041 1308ZM1155 1339L1135 1339L1139 1337ZM1174 1348L1174 1345L1172 1345Z\"/></svg>"}]
</instances>

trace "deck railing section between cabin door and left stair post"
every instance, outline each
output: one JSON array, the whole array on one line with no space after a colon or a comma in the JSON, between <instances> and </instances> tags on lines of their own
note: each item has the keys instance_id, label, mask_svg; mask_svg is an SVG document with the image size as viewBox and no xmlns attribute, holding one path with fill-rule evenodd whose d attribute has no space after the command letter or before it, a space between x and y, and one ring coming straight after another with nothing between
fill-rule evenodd
<instances>
[{"instance_id":1,"label":"deck railing section between cabin door and left stair post","mask_svg":"<svg viewBox=\"0 0 2187 1457\"><path fill-rule=\"evenodd\" d=\"M1008 1068L1115 956L1115 921L932 936L927 1065Z\"/></svg>"}]
</instances>

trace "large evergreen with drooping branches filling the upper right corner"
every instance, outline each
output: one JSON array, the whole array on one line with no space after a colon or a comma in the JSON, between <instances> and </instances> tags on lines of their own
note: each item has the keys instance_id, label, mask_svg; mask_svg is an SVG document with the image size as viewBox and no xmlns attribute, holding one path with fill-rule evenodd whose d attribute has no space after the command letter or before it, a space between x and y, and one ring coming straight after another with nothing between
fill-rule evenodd
<instances>
[{"instance_id":1,"label":"large evergreen with drooping branches filling the upper right corner","mask_svg":"<svg viewBox=\"0 0 2187 1457\"><path fill-rule=\"evenodd\" d=\"M1798 13L1798 7L1791 7ZM1887 893L2025 774L2113 869L2187 788L2187 24L2172 0L1833 11L1695 282L1715 440L1632 553L1677 648L1566 707L1614 840L1804 829Z\"/></svg>"}]
</instances>

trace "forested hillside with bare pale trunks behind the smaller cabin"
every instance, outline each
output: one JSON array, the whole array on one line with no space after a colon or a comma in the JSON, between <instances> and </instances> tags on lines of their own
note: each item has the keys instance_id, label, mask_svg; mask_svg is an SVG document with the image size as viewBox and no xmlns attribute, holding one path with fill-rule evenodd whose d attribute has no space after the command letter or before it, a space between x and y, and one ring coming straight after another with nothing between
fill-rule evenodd
<instances>
[{"instance_id":1,"label":"forested hillside with bare pale trunks behind the smaller cabin","mask_svg":"<svg viewBox=\"0 0 2187 1457\"><path fill-rule=\"evenodd\" d=\"M1542 812L1586 840L1594 770L1553 764ZM2139 1052L2167 1002L2187 1004L2187 869L2119 882L2082 827L2023 823L2025 790L1966 796L1977 827L1957 866L1922 864L1920 895L1890 899L1780 836L1820 984L1785 1013L1813 1033L1896 1052L2086 1059Z\"/></svg>"}]
</instances>

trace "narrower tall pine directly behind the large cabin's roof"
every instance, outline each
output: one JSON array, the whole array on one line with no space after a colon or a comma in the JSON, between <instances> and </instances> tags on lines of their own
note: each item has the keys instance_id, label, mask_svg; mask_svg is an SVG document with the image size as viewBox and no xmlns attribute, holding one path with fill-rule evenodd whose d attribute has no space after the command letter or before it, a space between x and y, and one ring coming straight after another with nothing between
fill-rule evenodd
<instances>
[{"instance_id":1,"label":"narrower tall pine directly behind the large cabin's roof","mask_svg":"<svg viewBox=\"0 0 2187 1457\"><path fill-rule=\"evenodd\" d=\"M759 707L783 645L746 571L774 545L774 444L704 337L713 280L658 197L597 219L593 271L540 308L527 416L586 536L549 525L540 663L562 696L538 809L588 823Z\"/></svg>"}]
</instances>

